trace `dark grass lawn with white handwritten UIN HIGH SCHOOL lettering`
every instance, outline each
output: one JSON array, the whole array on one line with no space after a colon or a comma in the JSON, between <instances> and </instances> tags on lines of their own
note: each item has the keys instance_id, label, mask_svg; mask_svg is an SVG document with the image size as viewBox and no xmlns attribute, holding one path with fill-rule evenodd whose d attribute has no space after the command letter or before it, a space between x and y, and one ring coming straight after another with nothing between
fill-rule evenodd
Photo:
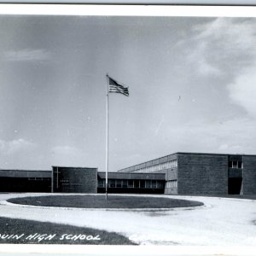
<instances>
[{"instance_id":1,"label":"dark grass lawn with white handwritten UIN HIGH SCHOOL lettering","mask_svg":"<svg viewBox=\"0 0 256 256\"><path fill-rule=\"evenodd\" d=\"M0 230L0 243L136 245L113 232L24 219L0 217Z\"/></svg>"}]
</instances>

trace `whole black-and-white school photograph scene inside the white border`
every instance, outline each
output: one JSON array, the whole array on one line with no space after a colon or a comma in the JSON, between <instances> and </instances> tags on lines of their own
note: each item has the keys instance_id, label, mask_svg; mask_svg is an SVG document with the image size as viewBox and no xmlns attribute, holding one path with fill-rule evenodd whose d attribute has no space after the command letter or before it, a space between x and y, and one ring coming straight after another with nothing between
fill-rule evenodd
<instances>
[{"instance_id":1,"label":"whole black-and-white school photograph scene inside the white border","mask_svg":"<svg viewBox=\"0 0 256 256\"><path fill-rule=\"evenodd\" d=\"M1 14L0 243L255 247L255 46L250 16Z\"/></svg>"}]
</instances>

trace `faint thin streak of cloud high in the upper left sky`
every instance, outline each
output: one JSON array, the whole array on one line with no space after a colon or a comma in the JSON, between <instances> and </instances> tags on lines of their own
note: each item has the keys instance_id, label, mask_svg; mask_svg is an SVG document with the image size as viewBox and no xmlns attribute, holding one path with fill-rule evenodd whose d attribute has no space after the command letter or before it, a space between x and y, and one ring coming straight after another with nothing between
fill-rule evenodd
<instances>
[{"instance_id":1,"label":"faint thin streak of cloud high in the upper left sky","mask_svg":"<svg viewBox=\"0 0 256 256\"><path fill-rule=\"evenodd\" d=\"M20 49L10 50L5 53L7 61L47 61L50 54L44 49Z\"/></svg>"}]
</instances>

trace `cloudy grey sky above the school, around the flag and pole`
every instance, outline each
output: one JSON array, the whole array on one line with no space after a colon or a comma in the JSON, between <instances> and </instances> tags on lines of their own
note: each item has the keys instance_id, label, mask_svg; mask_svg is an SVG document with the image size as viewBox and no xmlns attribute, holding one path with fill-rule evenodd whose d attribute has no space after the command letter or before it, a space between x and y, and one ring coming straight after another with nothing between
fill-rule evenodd
<instances>
[{"instance_id":1,"label":"cloudy grey sky above the school, around the flag and pole","mask_svg":"<svg viewBox=\"0 0 256 256\"><path fill-rule=\"evenodd\" d=\"M255 18L0 15L0 168L256 154Z\"/></svg>"}]
</instances>

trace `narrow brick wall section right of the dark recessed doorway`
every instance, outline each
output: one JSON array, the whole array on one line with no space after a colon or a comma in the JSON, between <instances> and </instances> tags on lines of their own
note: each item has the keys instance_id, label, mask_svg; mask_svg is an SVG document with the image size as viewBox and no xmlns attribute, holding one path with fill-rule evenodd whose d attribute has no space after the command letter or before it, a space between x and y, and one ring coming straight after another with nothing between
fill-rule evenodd
<instances>
[{"instance_id":1,"label":"narrow brick wall section right of the dark recessed doorway","mask_svg":"<svg viewBox=\"0 0 256 256\"><path fill-rule=\"evenodd\" d=\"M256 156L243 157L243 194L256 194Z\"/></svg>"}]
</instances>

